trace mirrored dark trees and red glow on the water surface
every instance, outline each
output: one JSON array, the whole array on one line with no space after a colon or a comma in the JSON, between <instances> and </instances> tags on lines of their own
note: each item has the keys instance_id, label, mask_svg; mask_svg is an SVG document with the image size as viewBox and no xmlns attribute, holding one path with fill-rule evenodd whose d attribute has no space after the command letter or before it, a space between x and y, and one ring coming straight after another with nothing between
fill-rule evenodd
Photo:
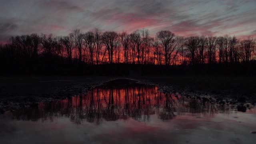
<instances>
[{"instance_id":1,"label":"mirrored dark trees and red glow on the water surface","mask_svg":"<svg viewBox=\"0 0 256 144\"><path fill-rule=\"evenodd\" d=\"M176 94L163 94L156 86L134 86L129 88L94 88L87 94L80 94L66 100L39 103L12 113L18 120L52 120L54 117L68 117L76 124L83 120L100 124L102 120L115 121L133 118L149 121L156 114L161 120L171 120L176 115L202 113L214 115L229 112L229 107L189 99Z\"/></svg>"}]
</instances>

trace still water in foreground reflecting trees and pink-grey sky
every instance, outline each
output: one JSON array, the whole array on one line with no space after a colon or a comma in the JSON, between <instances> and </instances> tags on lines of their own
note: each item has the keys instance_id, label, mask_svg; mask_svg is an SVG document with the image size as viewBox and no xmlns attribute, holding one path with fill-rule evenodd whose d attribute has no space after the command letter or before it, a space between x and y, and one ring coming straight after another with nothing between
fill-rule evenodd
<instances>
[{"instance_id":1,"label":"still water in foreground reflecting trees and pink-grey sky","mask_svg":"<svg viewBox=\"0 0 256 144\"><path fill-rule=\"evenodd\" d=\"M2 144L254 144L256 109L116 84L0 115Z\"/></svg>"}]
</instances>

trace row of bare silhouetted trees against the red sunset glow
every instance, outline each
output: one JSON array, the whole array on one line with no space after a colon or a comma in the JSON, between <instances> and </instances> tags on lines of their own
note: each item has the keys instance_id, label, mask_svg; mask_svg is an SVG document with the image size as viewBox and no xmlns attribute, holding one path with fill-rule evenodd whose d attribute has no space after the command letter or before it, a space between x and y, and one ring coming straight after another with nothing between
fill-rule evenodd
<instances>
[{"instance_id":1,"label":"row of bare silhouetted trees against the red sunset glow","mask_svg":"<svg viewBox=\"0 0 256 144\"><path fill-rule=\"evenodd\" d=\"M94 29L72 31L68 36L30 34L12 36L0 45L2 62L13 64L58 58L63 64L216 64L243 63L256 59L252 38L239 40L235 36L175 35L161 30L150 36L148 29L130 34Z\"/></svg>"}]
</instances>

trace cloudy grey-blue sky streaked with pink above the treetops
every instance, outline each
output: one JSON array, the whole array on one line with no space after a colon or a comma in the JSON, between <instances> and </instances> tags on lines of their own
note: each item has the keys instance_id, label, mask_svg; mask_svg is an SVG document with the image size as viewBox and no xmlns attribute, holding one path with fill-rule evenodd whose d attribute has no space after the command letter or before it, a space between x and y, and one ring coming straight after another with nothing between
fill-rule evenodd
<instances>
[{"instance_id":1,"label":"cloudy grey-blue sky streaked with pink above the treetops","mask_svg":"<svg viewBox=\"0 0 256 144\"><path fill-rule=\"evenodd\" d=\"M256 0L0 0L2 43L14 35L65 36L77 28L256 38Z\"/></svg>"}]
</instances>

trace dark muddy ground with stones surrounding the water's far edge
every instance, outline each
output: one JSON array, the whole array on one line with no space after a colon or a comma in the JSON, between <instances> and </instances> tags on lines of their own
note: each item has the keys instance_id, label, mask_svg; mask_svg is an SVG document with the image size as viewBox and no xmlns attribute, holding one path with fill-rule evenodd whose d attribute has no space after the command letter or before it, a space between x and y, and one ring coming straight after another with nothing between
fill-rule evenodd
<instances>
[{"instance_id":1,"label":"dark muddy ground with stones surrounding the water's far edge","mask_svg":"<svg viewBox=\"0 0 256 144\"><path fill-rule=\"evenodd\" d=\"M227 76L27 76L0 77L0 113L86 93L110 80L129 78L143 84L158 85L164 93L214 98L220 104L256 103L255 77ZM121 82L122 83L122 82ZM118 84L119 85L119 84Z\"/></svg>"}]
</instances>

